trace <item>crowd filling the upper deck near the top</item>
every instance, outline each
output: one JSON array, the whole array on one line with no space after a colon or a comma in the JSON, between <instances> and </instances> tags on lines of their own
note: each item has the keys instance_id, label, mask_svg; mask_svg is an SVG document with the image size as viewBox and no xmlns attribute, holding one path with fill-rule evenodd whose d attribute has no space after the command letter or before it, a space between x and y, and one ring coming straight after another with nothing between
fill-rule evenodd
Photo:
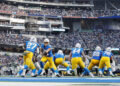
<instances>
[{"instance_id":1,"label":"crowd filling the upper deck near the top","mask_svg":"<svg viewBox=\"0 0 120 86\"><path fill-rule=\"evenodd\" d=\"M25 8L25 7L24 7ZM30 7L32 8L32 7ZM20 9L18 6L0 3L0 11L8 11L11 14L18 15L52 15L52 16L79 16L82 18L99 17L99 16L116 16L120 15L118 10L93 10L81 8L43 8L35 10Z\"/></svg>"}]
</instances>

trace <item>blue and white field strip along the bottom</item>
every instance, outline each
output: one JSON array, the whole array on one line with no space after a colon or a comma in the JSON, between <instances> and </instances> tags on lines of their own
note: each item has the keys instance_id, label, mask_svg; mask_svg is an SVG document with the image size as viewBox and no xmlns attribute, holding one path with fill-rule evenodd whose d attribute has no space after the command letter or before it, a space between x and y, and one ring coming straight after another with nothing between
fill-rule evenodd
<instances>
[{"instance_id":1,"label":"blue and white field strip along the bottom","mask_svg":"<svg viewBox=\"0 0 120 86\"><path fill-rule=\"evenodd\" d=\"M120 77L0 77L0 86L120 86Z\"/></svg>"}]
</instances>

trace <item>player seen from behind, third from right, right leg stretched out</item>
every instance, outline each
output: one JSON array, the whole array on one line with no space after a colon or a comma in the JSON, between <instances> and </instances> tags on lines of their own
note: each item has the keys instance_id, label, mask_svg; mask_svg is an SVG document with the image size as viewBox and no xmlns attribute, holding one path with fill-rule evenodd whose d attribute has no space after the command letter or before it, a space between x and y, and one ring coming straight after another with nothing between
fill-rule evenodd
<instances>
[{"instance_id":1,"label":"player seen from behind, third from right, right leg stretched out","mask_svg":"<svg viewBox=\"0 0 120 86\"><path fill-rule=\"evenodd\" d=\"M94 75L85 67L84 62L82 61L82 56L86 58L83 52L83 48L81 48L81 44L77 43L75 45L75 48L73 48L70 53L70 58L72 57L72 70L76 72L76 68L79 65L82 69L84 69L84 72L82 73L81 77L83 77L86 73L88 73L91 77L94 77Z\"/></svg>"}]
</instances>

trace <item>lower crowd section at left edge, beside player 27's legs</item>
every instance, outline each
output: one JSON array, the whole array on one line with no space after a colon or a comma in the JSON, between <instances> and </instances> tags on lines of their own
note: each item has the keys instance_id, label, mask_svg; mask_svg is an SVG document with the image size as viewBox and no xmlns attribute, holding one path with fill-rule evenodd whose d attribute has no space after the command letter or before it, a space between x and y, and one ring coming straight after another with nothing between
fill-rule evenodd
<instances>
[{"instance_id":1,"label":"lower crowd section at left edge, beside player 27's legs","mask_svg":"<svg viewBox=\"0 0 120 86\"><path fill-rule=\"evenodd\" d=\"M13 75L18 72L18 67L22 65L23 60L19 55L1 54L0 52L0 75Z\"/></svg>"}]
</instances>

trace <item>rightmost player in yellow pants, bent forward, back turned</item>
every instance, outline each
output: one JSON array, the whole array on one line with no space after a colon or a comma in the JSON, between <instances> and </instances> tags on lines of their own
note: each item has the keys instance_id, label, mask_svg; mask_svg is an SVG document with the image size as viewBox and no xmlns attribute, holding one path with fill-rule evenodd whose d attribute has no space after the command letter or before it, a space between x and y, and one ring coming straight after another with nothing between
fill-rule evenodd
<instances>
[{"instance_id":1,"label":"rightmost player in yellow pants, bent forward, back turned","mask_svg":"<svg viewBox=\"0 0 120 86\"><path fill-rule=\"evenodd\" d=\"M109 71L110 76L114 77L112 70L111 70L111 65L110 65L110 60L113 59L113 54L111 52L111 48L108 47L106 48L106 50L103 52L102 54L102 58L100 60L100 64L99 64L99 76L102 77L103 73L102 73L102 68L106 65L107 69Z\"/></svg>"}]
</instances>

